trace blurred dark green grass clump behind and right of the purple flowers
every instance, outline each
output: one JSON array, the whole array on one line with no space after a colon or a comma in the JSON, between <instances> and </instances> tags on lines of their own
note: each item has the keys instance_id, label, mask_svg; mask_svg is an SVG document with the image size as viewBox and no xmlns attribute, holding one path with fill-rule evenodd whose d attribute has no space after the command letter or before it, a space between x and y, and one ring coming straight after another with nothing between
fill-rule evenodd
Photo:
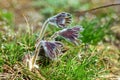
<instances>
[{"instance_id":1,"label":"blurred dark green grass clump behind and right of the purple flowers","mask_svg":"<svg viewBox=\"0 0 120 80\"><path fill-rule=\"evenodd\" d=\"M98 42L103 40L104 36L110 31L112 21L113 19L110 19L104 24L99 18L95 18L90 21L83 20L81 22L81 25L84 27L81 38L82 42L96 45Z\"/></svg>"}]
</instances>

